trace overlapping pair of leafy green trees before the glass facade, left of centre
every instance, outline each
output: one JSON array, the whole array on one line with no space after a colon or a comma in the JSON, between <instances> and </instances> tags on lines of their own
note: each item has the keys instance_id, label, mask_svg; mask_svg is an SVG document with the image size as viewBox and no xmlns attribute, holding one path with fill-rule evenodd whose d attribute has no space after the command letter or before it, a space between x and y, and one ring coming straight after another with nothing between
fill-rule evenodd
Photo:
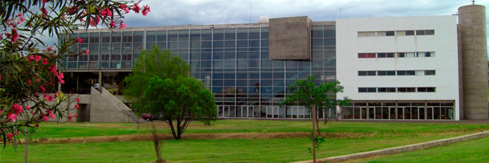
<instances>
[{"instance_id":1,"label":"overlapping pair of leafy green trees before the glass facade, left of centre","mask_svg":"<svg viewBox=\"0 0 489 163\"><path fill-rule=\"evenodd\" d=\"M138 113L161 115L180 139L191 120L210 124L216 120L216 101L201 81L189 77L190 65L168 50L153 46L143 51L124 79L124 96Z\"/></svg>"}]
</instances>

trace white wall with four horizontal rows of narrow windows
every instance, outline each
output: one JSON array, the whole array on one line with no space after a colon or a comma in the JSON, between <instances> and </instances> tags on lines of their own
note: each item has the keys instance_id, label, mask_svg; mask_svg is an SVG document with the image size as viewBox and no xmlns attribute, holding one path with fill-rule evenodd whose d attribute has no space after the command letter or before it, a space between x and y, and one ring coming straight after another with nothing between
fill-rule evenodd
<instances>
[{"instance_id":1,"label":"white wall with four horizontal rows of narrow windows","mask_svg":"<svg viewBox=\"0 0 489 163\"><path fill-rule=\"evenodd\" d=\"M434 29L435 35L358 37L358 31ZM338 19L336 76L353 100L455 100L459 120L457 17L422 16ZM358 53L435 52L429 58L366 58ZM436 70L435 76L358 76L358 71ZM436 92L359 93L358 87L436 87Z\"/></svg>"}]
</instances>

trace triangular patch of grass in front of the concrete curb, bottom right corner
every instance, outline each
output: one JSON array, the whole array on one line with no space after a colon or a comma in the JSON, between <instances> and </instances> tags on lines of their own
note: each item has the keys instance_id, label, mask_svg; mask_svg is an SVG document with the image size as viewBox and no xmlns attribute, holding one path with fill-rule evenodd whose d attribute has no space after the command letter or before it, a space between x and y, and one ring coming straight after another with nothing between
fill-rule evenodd
<instances>
[{"instance_id":1,"label":"triangular patch of grass in front of the concrete curb, bottom right corner","mask_svg":"<svg viewBox=\"0 0 489 163\"><path fill-rule=\"evenodd\" d=\"M489 163L489 138L452 145L357 160L353 163Z\"/></svg>"}]
</instances>

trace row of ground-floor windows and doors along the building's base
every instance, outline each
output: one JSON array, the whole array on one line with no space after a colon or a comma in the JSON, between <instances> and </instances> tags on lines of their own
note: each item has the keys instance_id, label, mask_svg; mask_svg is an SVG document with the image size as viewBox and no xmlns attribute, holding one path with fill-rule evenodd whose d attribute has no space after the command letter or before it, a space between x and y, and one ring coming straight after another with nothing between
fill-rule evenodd
<instances>
[{"instance_id":1,"label":"row of ground-floor windows and doors along the building's base","mask_svg":"<svg viewBox=\"0 0 489 163\"><path fill-rule=\"evenodd\" d=\"M453 120L454 102L369 102L354 101L349 106L318 110L318 118ZM304 106L219 105L218 118L307 119L311 110Z\"/></svg>"}]
</instances>

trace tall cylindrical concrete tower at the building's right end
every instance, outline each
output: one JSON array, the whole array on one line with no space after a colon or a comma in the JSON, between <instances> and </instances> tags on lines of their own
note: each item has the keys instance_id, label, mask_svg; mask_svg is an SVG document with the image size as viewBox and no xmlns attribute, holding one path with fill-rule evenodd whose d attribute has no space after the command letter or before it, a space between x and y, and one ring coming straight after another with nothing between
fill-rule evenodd
<instances>
[{"instance_id":1,"label":"tall cylindrical concrete tower at the building's right end","mask_svg":"<svg viewBox=\"0 0 489 163\"><path fill-rule=\"evenodd\" d=\"M459 7L465 119L489 119L486 7ZM460 45L459 45L460 46Z\"/></svg>"}]
</instances>

